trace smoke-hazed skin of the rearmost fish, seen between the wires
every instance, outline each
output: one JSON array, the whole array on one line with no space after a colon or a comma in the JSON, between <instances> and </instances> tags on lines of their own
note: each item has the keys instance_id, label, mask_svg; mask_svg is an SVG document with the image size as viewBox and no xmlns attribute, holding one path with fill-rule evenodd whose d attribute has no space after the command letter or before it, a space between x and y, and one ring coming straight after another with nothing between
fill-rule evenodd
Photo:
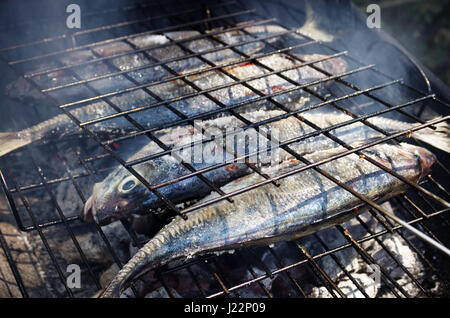
<instances>
[{"instance_id":1,"label":"smoke-hazed skin of the rearmost fish, seen between the wires","mask_svg":"<svg viewBox=\"0 0 450 318\"><path fill-rule=\"evenodd\" d=\"M251 28L249 30L251 31ZM270 29L267 29L265 32L271 31ZM260 33L256 34L258 35ZM86 62L89 62L95 58L107 57L111 57L111 63L122 71L129 70L131 68L145 67L148 65L147 68L139 69L136 72L131 72L131 77L140 82L157 81L168 75L167 71L165 71L161 66L152 67L150 64L153 64L155 61L150 61L144 56L143 53L132 53L134 51L132 45L135 45L139 49L145 49L148 47L149 50L146 52L148 52L150 56L153 56L156 60L166 60L186 55L186 53L183 53L182 49L178 46L167 45L169 44L171 38L178 40L189 39L198 35L199 32L197 31L167 32L161 35L137 35L130 38L130 43L118 41L110 44L95 46L92 50L77 50L76 52L65 55L57 62L44 62L38 64L31 71L31 73L34 73L46 69L56 69L60 66L79 65L73 68L73 72L75 74L72 74L70 71L66 71L64 69L55 70L55 72L33 77L33 81L35 81L39 87L46 89L75 82L78 80L76 75L80 76L82 79L102 76L113 72L113 70L111 70L111 68L102 61L95 62L93 64ZM243 32L230 32L230 34L219 35L219 37L226 38L230 41L230 43L237 43L249 38L249 36L245 35ZM188 43L190 48L194 48L197 51L202 50L202 47L210 47L213 45L213 41L208 38L193 40ZM152 49L158 45L165 46L162 48ZM255 42L245 46L245 52L248 54L253 54L263 48L264 44L262 42ZM114 58L115 55L122 56ZM215 62L226 62L231 58L235 58L235 54L232 54L231 50L222 50L219 53L214 54ZM181 70L196 68L199 67L200 64L201 63L198 59L180 59L176 62L177 67ZM95 89L98 89L100 93L106 93L119 88L130 87L130 85L132 85L132 83L126 80L123 75L99 79L91 82L91 84ZM31 84L29 84L24 78L19 78L18 80L7 85L5 94L21 102L31 102L34 104L48 103L46 97L41 92L36 90ZM84 85L71 86L68 89L53 91L49 94L61 103L92 97L92 93Z\"/></svg>"}]
</instances>

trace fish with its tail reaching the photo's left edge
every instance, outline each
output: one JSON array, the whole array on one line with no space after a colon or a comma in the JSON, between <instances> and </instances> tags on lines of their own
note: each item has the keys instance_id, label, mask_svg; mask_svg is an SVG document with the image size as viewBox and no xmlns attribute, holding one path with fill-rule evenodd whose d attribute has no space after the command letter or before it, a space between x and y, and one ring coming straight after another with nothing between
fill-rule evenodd
<instances>
[{"instance_id":1,"label":"fish with its tail reaching the photo's left edge","mask_svg":"<svg viewBox=\"0 0 450 318\"><path fill-rule=\"evenodd\" d=\"M323 60L326 57L323 55L314 54L304 56L303 58L306 60L317 61ZM300 62L293 61L283 54L263 57L259 59L259 61L273 67L276 70L283 70L295 65L301 65ZM323 60L317 64L334 73L343 72L346 67L345 62L340 58ZM190 73L196 73L198 70L198 68L194 70L183 69L183 73L188 75ZM249 62L228 66L226 67L226 71L234 74L239 79L262 76L266 72L260 66ZM80 71L80 74L82 73L82 75L88 77L90 74L86 73L89 72L89 70L83 68L83 70ZM300 84L324 77L323 74L309 66L284 72L284 75L289 76L291 80L294 80ZM230 83L231 81L228 76L219 71L204 72L187 76L187 78L201 89L220 87L221 85ZM290 84L275 75L255 79L251 81L250 84L252 84L255 89L259 90L263 94L282 91L293 86L293 84ZM227 88L211 91L211 97L207 98L203 94L198 94L193 87L187 85L182 80L171 80L171 77L169 77L168 80L162 81L161 84L152 86L149 90L154 95L158 96L159 100L177 99L177 101L170 103L171 107L186 116L192 116L194 114L220 108L216 100L224 106L229 106L240 102L250 101L251 99L259 97L257 92L254 92L242 85L233 85ZM180 98L180 96L189 96L189 98ZM297 90L289 92L288 94L282 94L279 96L278 102L295 104L298 103L301 98L302 92L301 90ZM77 120L85 122L117 113L117 110L115 110L109 103L114 104L122 111L127 111L155 104L159 102L159 100L155 99L154 96L151 96L143 89L137 89L119 94L117 96L108 97L103 101L98 100L98 98L94 98L94 101L88 103L87 105L79 106L77 108L70 109L69 111ZM86 102L89 101L90 100L86 100ZM269 104L270 103L267 100L262 100L257 103L249 103L251 107L258 109L273 107L273 105ZM243 111L245 111L245 109ZM154 107L130 114L129 116L145 128L154 128L180 119L175 112L163 104L155 105ZM97 122L87 127L97 134L105 134L107 136L122 136L129 131L137 130L137 128L134 127L127 119L120 116ZM59 139L67 135L82 136L82 131L66 114L55 116L47 121L20 132L1 132L0 156L35 141Z\"/></svg>"}]
</instances>

